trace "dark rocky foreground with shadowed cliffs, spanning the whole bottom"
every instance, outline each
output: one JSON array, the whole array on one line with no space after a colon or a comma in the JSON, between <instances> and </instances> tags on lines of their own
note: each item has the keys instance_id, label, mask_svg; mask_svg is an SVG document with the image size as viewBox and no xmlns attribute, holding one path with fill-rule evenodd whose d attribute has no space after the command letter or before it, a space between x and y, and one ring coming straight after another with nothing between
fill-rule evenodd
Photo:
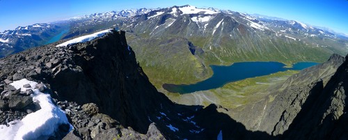
<instances>
[{"instance_id":1,"label":"dark rocky foreground with shadowed cliffs, spanning the whole bottom","mask_svg":"<svg viewBox=\"0 0 348 140\"><path fill-rule=\"evenodd\" d=\"M61 42L0 59L2 127L41 109L38 102L33 101L31 90L21 91L10 85L29 79L38 83L35 89L52 97L74 127L69 132L67 124L61 124L49 139L348 138L345 105L348 61L343 62L343 58L331 59L342 62L332 77L303 82L302 85L308 84L304 86L306 90L296 88L288 80L287 86L296 89L292 90L294 94L286 94L286 90L279 93L281 96L276 100L281 105L272 103L271 108L267 108L270 109L265 115L267 119L260 120L266 127L250 131L243 123L217 111L223 110L219 105L212 104L205 109L184 106L157 92L136 62L123 31L56 47ZM315 71L306 70L306 75ZM290 77L290 80L306 79Z\"/></svg>"}]
</instances>

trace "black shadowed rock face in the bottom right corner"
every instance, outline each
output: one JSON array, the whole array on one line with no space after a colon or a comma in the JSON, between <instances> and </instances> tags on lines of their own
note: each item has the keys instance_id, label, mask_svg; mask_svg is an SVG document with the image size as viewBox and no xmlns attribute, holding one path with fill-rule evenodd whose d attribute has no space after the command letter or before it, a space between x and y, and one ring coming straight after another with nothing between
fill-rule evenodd
<instances>
[{"instance_id":1,"label":"black shadowed rock face in the bottom right corner","mask_svg":"<svg viewBox=\"0 0 348 140\"><path fill-rule=\"evenodd\" d=\"M284 139L347 139L347 59L324 88L308 97Z\"/></svg>"}]
</instances>

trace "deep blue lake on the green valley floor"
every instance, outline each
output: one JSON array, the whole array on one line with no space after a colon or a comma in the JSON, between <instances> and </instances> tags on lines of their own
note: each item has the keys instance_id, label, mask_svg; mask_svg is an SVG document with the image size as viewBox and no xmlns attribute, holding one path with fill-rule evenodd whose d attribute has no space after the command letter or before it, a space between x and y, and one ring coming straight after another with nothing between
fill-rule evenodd
<instances>
[{"instance_id":1,"label":"deep blue lake on the green valley floor","mask_svg":"<svg viewBox=\"0 0 348 140\"><path fill-rule=\"evenodd\" d=\"M193 93L195 91L219 88L232 81L270 75L286 70L302 70L317 64L313 62L299 62L292 65L292 68L284 68L285 64L279 62L241 62L228 66L212 65L214 74L209 79L189 85L164 84L163 88L171 93Z\"/></svg>"}]
</instances>

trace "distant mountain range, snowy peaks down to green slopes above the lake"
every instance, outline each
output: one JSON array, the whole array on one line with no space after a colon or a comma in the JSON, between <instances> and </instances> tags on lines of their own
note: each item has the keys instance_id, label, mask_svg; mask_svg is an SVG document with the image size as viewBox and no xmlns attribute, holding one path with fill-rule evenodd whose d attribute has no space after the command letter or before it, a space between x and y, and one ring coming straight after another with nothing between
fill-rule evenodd
<instances>
[{"instance_id":1,"label":"distant mountain range, snowy peaks down to green slopes above the lake","mask_svg":"<svg viewBox=\"0 0 348 140\"><path fill-rule=\"evenodd\" d=\"M209 65L322 63L333 53L348 52L346 37L301 22L194 6L95 13L42 25L45 28L24 26L0 33L1 56L45 45L52 38L73 38L113 26L127 31L129 46L157 88L207 79L212 75ZM35 38L24 38L23 33Z\"/></svg>"}]
</instances>

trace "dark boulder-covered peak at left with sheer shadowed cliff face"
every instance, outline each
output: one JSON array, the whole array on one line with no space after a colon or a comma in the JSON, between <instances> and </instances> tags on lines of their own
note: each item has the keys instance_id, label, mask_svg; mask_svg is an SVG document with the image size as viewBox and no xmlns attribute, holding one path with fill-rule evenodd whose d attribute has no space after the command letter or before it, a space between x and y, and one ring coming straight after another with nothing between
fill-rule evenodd
<instances>
[{"instance_id":1,"label":"dark boulder-covered peak at left with sheer shadowed cliff face","mask_svg":"<svg viewBox=\"0 0 348 140\"><path fill-rule=\"evenodd\" d=\"M97 40L69 47L55 47L56 44L0 60L1 124L30 113L24 108L32 102L29 94L17 95L19 92L9 85L23 78L48 87L54 100L70 116L75 133L83 139L123 126L146 133L152 123L150 118L155 118L151 115L155 114L154 107L173 104L169 100L161 102L166 97L157 93L136 64L134 52L127 47L125 32L113 31Z\"/></svg>"}]
</instances>

